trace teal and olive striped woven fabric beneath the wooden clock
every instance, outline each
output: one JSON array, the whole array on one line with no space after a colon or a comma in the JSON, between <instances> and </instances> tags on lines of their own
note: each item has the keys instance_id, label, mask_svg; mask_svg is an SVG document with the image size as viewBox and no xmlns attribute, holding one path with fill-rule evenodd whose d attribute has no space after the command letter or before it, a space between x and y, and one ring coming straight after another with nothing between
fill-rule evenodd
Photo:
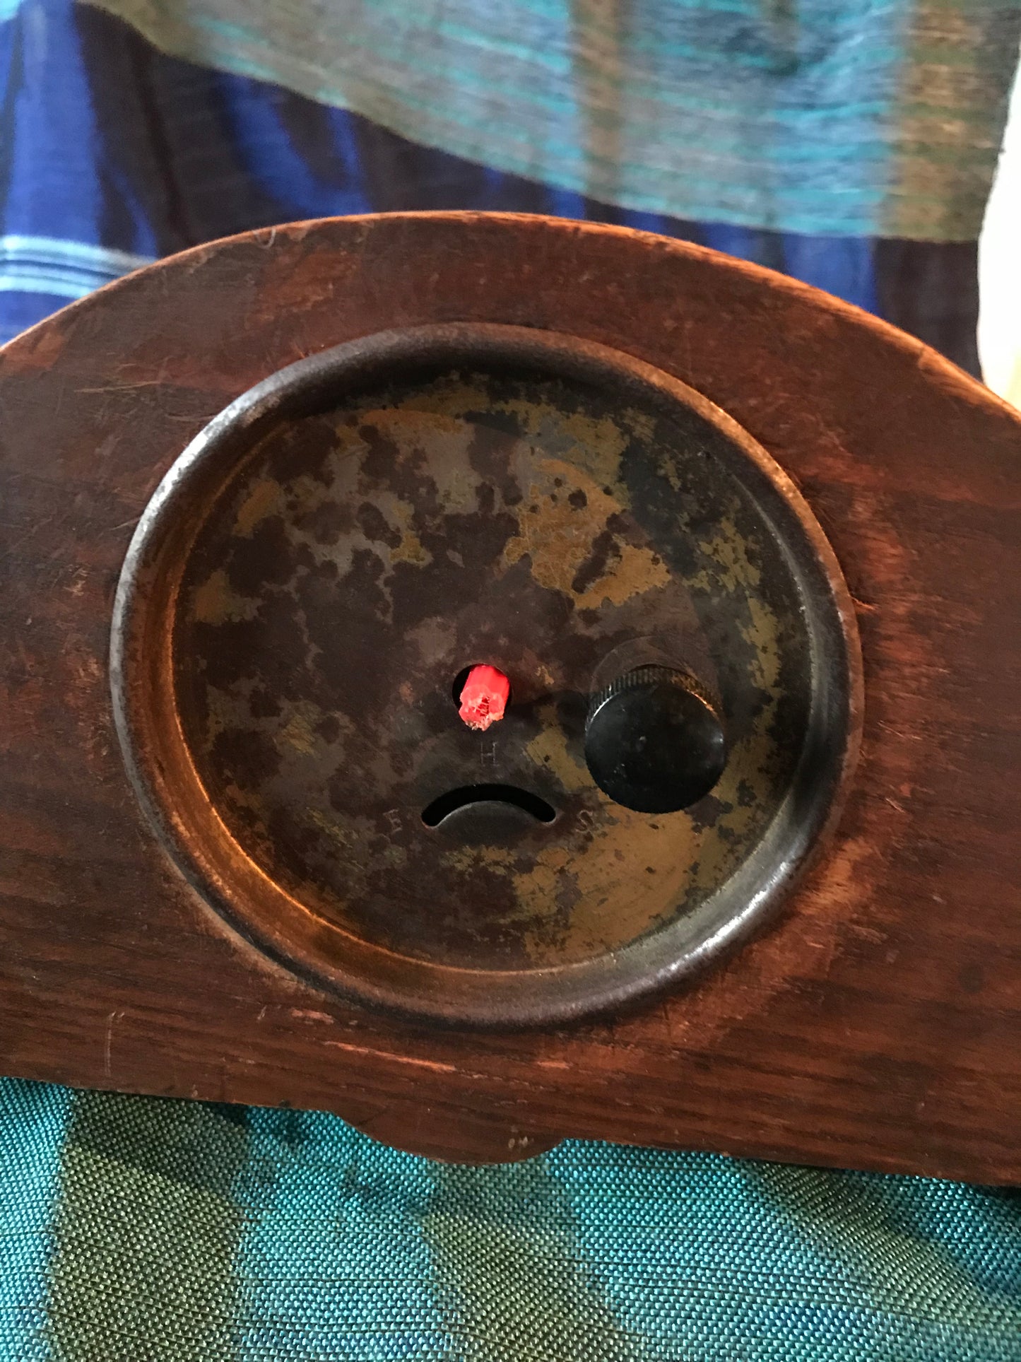
<instances>
[{"instance_id":1,"label":"teal and olive striped woven fabric beneath the wooden clock","mask_svg":"<svg viewBox=\"0 0 1021 1362\"><path fill-rule=\"evenodd\" d=\"M1018 1362L1021 1193L5 1080L0 1358Z\"/></svg>"}]
</instances>

